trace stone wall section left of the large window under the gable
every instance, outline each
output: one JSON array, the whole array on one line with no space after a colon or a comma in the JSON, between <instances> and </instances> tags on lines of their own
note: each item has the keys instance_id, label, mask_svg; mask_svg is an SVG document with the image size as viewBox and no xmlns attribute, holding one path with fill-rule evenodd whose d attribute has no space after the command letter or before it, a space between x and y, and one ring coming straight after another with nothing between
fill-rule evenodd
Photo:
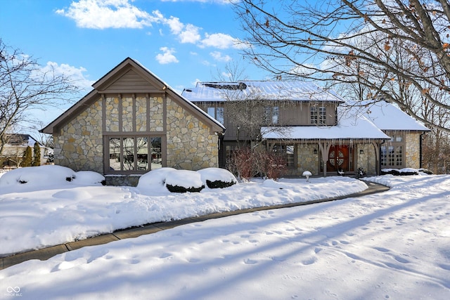
<instances>
[{"instance_id":1,"label":"stone wall section left of the large window under the gable","mask_svg":"<svg viewBox=\"0 0 450 300\"><path fill-rule=\"evenodd\" d=\"M102 102L98 99L53 136L55 164L103 174Z\"/></svg>"}]
</instances>

